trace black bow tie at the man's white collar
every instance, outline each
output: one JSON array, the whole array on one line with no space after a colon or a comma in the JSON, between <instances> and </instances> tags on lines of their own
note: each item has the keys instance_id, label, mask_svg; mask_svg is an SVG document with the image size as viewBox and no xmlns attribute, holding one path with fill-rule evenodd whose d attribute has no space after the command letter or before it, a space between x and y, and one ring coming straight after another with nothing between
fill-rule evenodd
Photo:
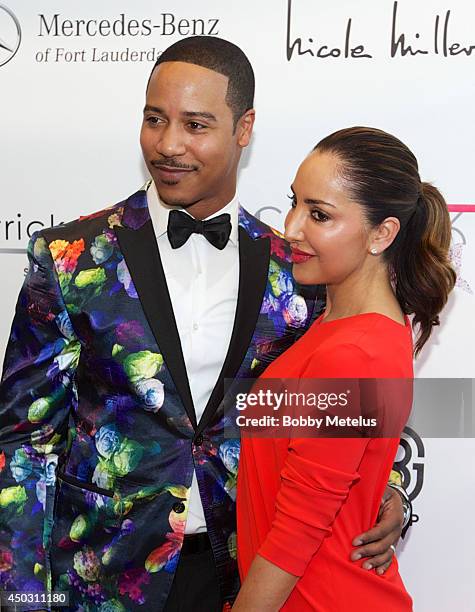
<instances>
[{"instance_id":1,"label":"black bow tie at the man's white collar","mask_svg":"<svg viewBox=\"0 0 475 612\"><path fill-rule=\"evenodd\" d=\"M231 233L231 216L224 213L208 221L199 221L179 210L171 210L167 232L172 249L183 246L191 234L203 234L208 242L222 251Z\"/></svg>"}]
</instances>

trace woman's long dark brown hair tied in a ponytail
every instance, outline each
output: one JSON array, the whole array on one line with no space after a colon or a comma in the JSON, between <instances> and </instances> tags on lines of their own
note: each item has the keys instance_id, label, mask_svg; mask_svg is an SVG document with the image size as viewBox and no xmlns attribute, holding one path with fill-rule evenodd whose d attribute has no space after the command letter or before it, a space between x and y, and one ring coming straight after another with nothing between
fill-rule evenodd
<instances>
[{"instance_id":1,"label":"woman's long dark brown hair tied in a ponytail","mask_svg":"<svg viewBox=\"0 0 475 612\"><path fill-rule=\"evenodd\" d=\"M321 140L314 151L334 154L350 197L371 227L397 217L401 228L384 251L396 298L418 326L414 353L427 342L456 281L449 261L451 222L447 204L419 177L417 160L400 140L382 130L353 127Z\"/></svg>"}]
</instances>

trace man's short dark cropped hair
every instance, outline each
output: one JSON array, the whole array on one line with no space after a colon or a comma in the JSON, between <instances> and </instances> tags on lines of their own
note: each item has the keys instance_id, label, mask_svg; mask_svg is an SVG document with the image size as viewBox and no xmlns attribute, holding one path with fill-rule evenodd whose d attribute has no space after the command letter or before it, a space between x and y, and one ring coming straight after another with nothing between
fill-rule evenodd
<instances>
[{"instance_id":1,"label":"man's short dark cropped hair","mask_svg":"<svg viewBox=\"0 0 475 612\"><path fill-rule=\"evenodd\" d=\"M244 52L235 44L216 36L183 38L165 49L154 69L164 62L196 64L228 77L226 103L233 113L234 127L244 113L253 108L254 71Z\"/></svg>"}]
</instances>

